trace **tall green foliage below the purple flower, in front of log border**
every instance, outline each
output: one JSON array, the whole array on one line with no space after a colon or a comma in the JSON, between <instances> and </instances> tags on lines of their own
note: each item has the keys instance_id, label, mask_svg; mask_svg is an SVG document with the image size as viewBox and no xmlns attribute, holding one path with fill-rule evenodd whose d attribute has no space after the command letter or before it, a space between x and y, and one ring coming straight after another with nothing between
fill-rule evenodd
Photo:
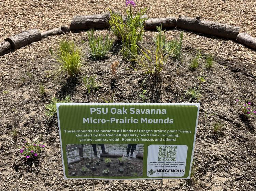
<instances>
[{"instance_id":1,"label":"tall green foliage below the purple flower, in front of log border","mask_svg":"<svg viewBox=\"0 0 256 191\"><path fill-rule=\"evenodd\" d=\"M123 21L121 14L112 12L110 9L109 11L111 31L116 36L117 41L122 43L121 53L123 58L134 59L134 55L138 51L137 43L142 41L144 35L143 23L146 19L141 19L141 17L145 14L146 9L140 9L137 13L132 8L127 9L126 21Z\"/></svg>"}]
</instances>

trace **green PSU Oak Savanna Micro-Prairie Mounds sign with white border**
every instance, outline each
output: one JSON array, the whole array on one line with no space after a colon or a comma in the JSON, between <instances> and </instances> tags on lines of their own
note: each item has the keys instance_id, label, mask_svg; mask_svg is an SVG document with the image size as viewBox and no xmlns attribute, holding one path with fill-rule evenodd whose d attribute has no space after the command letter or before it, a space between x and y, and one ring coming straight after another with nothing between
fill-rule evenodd
<instances>
[{"instance_id":1,"label":"green PSU Oak Savanna Micro-Prairie Mounds sign with white border","mask_svg":"<svg viewBox=\"0 0 256 191\"><path fill-rule=\"evenodd\" d=\"M189 179L199 106L57 103L65 179Z\"/></svg>"}]
</instances>

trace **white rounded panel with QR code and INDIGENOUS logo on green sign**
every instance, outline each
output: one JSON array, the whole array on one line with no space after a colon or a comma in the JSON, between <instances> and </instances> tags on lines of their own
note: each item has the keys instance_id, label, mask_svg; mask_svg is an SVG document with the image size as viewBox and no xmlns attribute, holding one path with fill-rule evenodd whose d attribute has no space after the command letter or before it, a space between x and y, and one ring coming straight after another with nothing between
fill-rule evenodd
<instances>
[{"instance_id":1,"label":"white rounded panel with QR code and INDIGENOUS logo on green sign","mask_svg":"<svg viewBox=\"0 0 256 191\"><path fill-rule=\"evenodd\" d=\"M187 145L148 146L148 177L182 177L185 174Z\"/></svg>"}]
</instances>

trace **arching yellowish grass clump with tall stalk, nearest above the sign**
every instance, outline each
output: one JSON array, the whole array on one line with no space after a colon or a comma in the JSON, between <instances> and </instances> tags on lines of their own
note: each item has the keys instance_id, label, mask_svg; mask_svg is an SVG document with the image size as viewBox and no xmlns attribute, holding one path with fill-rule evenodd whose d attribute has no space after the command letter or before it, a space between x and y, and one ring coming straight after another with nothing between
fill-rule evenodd
<instances>
[{"instance_id":1,"label":"arching yellowish grass clump with tall stalk, nearest above the sign","mask_svg":"<svg viewBox=\"0 0 256 191\"><path fill-rule=\"evenodd\" d=\"M163 73L165 71L165 64L172 53L169 51L166 53L166 49L164 46L165 39L165 30L162 31L161 27L157 26L158 34L155 37L156 47L152 47L152 50L139 48L141 54L136 54L134 57L135 60L139 64L139 68L141 68L144 74L148 75L150 79L157 80L161 79Z\"/></svg>"}]
</instances>

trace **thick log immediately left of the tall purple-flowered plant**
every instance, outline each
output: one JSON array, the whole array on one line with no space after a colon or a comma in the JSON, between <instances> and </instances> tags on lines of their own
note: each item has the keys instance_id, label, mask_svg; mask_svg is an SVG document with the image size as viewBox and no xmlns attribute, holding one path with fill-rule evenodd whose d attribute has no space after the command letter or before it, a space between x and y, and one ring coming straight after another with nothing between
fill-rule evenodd
<instances>
[{"instance_id":1,"label":"thick log immediately left of the tall purple-flowered plant","mask_svg":"<svg viewBox=\"0 0 256 191\"><path fill-rule=\"evenodd\" d=\"M70 30L87 30L87 29L100 29L108 28L108 19L110 13L104 13L99 15L82 15L74 16L70 24Z\"/></svg>"}]
</instances>

